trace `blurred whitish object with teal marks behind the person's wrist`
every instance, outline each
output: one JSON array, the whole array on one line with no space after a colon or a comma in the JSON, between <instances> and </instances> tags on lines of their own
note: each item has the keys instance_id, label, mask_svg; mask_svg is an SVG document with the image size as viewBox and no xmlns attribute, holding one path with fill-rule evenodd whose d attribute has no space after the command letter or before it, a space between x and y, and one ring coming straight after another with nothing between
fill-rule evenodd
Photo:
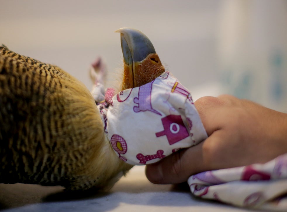
<instances>
[{"instance_id":1,"label":"blurred whitish object with teal marks behind the person's wrist","mask_svg":"<svg viewBox=\"0 0 287 212\"><path fill-rule=\"evenodd\" d=\"M220 15L224 92L287 112L287 1L224 1Z\"/></svg>"}]
</instances>

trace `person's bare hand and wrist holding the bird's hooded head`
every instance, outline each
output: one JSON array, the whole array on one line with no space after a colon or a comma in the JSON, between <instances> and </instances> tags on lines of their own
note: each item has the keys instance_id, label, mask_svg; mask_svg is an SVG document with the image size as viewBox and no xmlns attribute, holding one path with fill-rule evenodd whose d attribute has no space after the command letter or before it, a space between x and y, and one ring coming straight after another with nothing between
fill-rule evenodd
<instances>
[{"instance_id":1,"label":"person's bare hand and wrist holding the bird's hooded head","mask_svg":"<svg viewBox=\"0 0 287 212\"><path fill-rule=\"evenodd\" d=\"M230 95L194 104L209 137L147 165L152 183L182 183L202 171L265 163L287 152L287 114Z\"/></svg>"}]
</instances>

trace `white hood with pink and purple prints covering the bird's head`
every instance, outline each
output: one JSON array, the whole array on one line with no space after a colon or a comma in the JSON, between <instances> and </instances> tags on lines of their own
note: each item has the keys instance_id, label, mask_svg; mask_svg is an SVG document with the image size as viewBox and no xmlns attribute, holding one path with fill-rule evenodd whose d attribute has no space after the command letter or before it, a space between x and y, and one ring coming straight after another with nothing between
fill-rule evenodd
<instances>
[{"instance_id":1,"label":"white hood with pink and purple prints covering the bird's head","mask_svg":"<svg viewBox=\"0 0 287 212\"><path fill-rule=\"evenodd\" d=\"M170 72L107 101L108 138L129 164L155 163L207 138L189 91Z\"/></svg>"}]
</instances>

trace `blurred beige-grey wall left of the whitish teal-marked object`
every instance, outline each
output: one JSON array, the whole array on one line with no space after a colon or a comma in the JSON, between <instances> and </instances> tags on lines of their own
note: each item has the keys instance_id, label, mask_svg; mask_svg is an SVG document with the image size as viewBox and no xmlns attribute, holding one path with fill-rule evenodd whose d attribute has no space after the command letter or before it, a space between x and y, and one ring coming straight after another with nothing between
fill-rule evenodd
<instances>
[{"instance_id":1,"label":"blurred beige-grey wall left of the whitish teal-marked object","mask_svg":"<svg viewBox=\"0 0 287 212\"><path fill-rule=\"evenodd\" d=\"M217 78L215 29L220 1L0 0L0 43L54 63L88 87L89 64L122 68L121 27L144 32L163 64L189 86Z\"/></svg>"}]
</instances>

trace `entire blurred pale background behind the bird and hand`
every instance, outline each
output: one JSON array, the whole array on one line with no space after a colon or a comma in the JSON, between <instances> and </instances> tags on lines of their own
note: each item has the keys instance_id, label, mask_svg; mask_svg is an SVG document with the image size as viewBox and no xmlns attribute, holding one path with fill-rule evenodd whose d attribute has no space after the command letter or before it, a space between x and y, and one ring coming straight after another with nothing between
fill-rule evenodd
<instances>
[{"instance_id":1,"label":"entire blurred pale background behind the bird and hand","mask_svg":"<svg viewBox=\"0 0 287 212\"><path fill-rule=\"evenodd\" d=\"M121 76L121 27L144 32L194 99L229 93L287 112L286 0L0 0L0 43L88 88L98 55L109 86Z\"/></svg>"}]
</instances>

